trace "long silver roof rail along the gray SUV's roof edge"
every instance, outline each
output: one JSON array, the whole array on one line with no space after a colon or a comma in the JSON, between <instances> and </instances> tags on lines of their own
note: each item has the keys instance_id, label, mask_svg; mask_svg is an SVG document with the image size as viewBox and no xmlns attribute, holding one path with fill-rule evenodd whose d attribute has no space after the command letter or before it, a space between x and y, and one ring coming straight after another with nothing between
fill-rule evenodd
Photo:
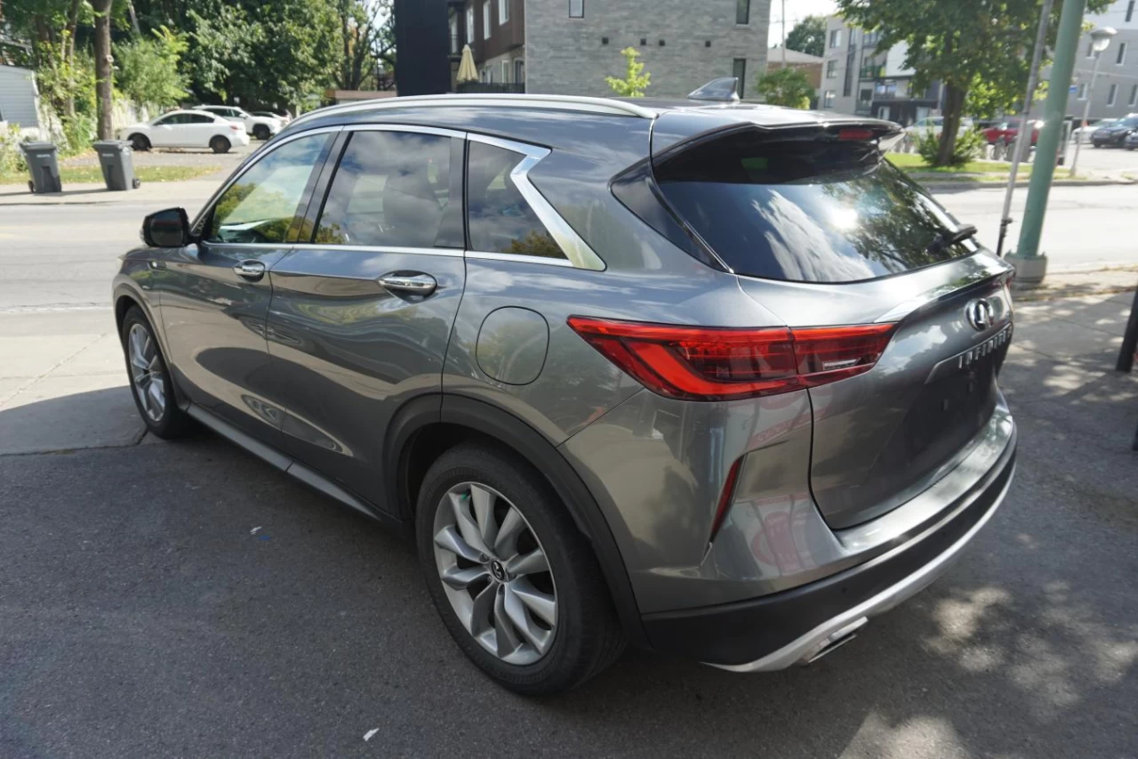
<instances>
[{"instance_id":1,"label":"long silver roof rail along the gray SUV's roof edge","mask_svg":"<svg viewBox=\"0 0 1138 759\"><path fill-rule=\"evenodd\" d=\"M637 119L655 119L654 111L642 108L624 100L611 98L587 98L575 95L513 95L513 93L475 93L475 95L417 95L396 98L376 98L358 103L316 108L294 119L289 126L327 116L330 114L355 113L358 111L391 111L395 108L445 108L445 107L494 107L500 108L546 108L560 111L580 111L585 113L604 114L609 116L635 116Z\"/></svg>"}]
</instances>

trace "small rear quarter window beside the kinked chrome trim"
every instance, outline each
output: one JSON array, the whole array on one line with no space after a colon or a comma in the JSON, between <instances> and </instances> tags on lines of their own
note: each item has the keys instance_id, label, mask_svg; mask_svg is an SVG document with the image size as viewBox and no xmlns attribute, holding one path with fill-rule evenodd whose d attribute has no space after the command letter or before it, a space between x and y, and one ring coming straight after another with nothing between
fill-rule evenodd
<instances>
[{"instance_id":1,"label":"small rear quarter window beside the kinked chrome trim","mask_svg":"<svg viewBox=\"0 0 1138 759\"><path fill-rule=\"evenodd\" d=\"M467 163L470 246L486 253L564 259L566 254L510 178L526 156L471 142Z\"/></svg>"}]
</instances>

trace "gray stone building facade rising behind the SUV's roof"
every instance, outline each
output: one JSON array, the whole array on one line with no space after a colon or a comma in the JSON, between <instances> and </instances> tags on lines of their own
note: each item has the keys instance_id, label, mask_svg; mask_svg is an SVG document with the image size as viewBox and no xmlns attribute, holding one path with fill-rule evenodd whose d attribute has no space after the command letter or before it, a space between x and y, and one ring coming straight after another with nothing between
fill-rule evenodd
<instances>
[{"instance_id":1,"label":"gray stone building facade rising behind the SUV's roof","mask_svg":"<svg viewBox=\"0 0 1138 759\"><path fill-rule=\"evenodd\" d=\"M770 0L751 0L745 25L735 23L736 0L584 0L583 18L569 17L570 5L526 0L527 92L611 96L604 77L624 77L620 50L634 47L652 74L648 97L682 97L732 76L736 59L745 60L743 97L757 97Z\"/></svg>"}]
</instances>

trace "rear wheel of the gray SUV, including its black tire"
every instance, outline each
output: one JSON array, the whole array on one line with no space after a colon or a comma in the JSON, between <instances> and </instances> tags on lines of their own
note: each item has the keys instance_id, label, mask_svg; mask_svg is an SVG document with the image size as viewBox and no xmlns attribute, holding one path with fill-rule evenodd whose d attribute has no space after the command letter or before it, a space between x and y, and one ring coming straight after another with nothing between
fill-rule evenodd
<instances>
[{"instance_id":1,"label":"rear wheel of the gray SUV, including its black tire","mask_svg":"<svg viewBox=\"0 0 1138 759\"><path fill-rule=\"evenodd\" d=\"M477 519L479 504L488 517L484 522L492 519L495 527L476 548L473 542L486 534ZM460 533L460 512L473 531L472 542ZM437 545L439 534L443 540L457 537L457 544L450 544L456 550ZM462 443L444 452L423 479L415 536L427 588L444 625L462 652L503 687L530 696L561 693L597 675L624 651L592 548L549 483L512 452L487 443ZM544 564L518 561L538 553ZM444 572L452 577L446 586ZM460 607L468 621L460 618ZM528 631L511 621L519 615ZM501 634L500 626L506 627Z\"/></svg>"}]
</instances>

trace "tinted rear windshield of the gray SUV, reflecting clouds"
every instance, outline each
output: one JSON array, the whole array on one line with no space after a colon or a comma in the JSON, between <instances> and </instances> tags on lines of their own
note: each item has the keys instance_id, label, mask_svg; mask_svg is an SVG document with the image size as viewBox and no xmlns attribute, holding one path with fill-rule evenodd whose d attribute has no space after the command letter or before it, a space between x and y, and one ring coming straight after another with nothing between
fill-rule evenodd
<instances>
[{"instance_id":1,"label":"tinted rear windshield of the gray SUV, reflecting clouds","mask_svg":"<svg viewBox=\"0 0 1138 759\"><path fill-rule=\"evenodd\" d=\"M736 274L859 281L978 250L945 244L958 228L871 142L780 139L747 131L669 157L657 182Z\"/></svg>"}]
</instances>

